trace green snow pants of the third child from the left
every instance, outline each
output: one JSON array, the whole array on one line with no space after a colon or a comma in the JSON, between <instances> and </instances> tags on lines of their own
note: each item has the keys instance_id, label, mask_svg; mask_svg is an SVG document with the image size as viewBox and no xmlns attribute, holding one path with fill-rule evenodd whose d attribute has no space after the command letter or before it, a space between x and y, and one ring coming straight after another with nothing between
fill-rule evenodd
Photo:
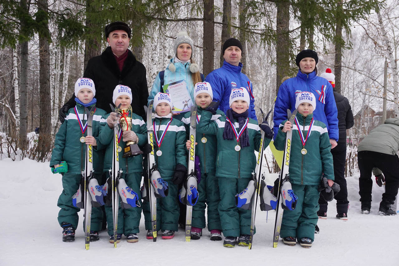
<instances>
[{"instance_id":1,"label":"green snow pants of the third child from the left","mask_svg":"<svg viewBox=\"0 0 399 266\"><path fill-rule=\"evenodd\" d=\"M172 182L172 177L164 178L168 182L169 194L167 197L156 199L157 230L177 231L179 224L179 204L177 202L178 186ZM146 230L151 230L150 203L143 201L143 213Z\"/></svg>"}]
</instances>

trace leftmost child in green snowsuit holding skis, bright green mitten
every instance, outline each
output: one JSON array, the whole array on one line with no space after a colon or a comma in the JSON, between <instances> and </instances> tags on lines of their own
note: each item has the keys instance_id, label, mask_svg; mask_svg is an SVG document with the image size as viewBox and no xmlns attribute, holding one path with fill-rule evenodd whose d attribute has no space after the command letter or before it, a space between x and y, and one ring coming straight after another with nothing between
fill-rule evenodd
<instances>
[{"instance_id":1,"label":"leftmost child in green snowsuit holding skis, bright green mitten","mask_svg":"<svg viewBox=\"0 0 399 266\"><path fill-rule=\"evenodd\" d=\"M88 78L79 78L75 83L75 96L77 97L75 98L76 106L68 110L65 123L61 124L55 135L54 149L50 159L50 167L54 168L53 173L62 174L63 191L58 198L57 206L61 208L58 212L58 222L63 228L65 242L75 239L75 230L79 221L77 212L80 209L73 206L72 196L79 189L82 171L85 169L86 144L93 145L93 170L98 181L103 172L102 153L97 152L97 136L99 123L105 111L100 108L95 109L92 136L87 136L87 114L84 115L85 107L90 110L97 101L94 98L93 81ZM92 208L91 233L101 230L102 216L103 212L100 208ZM98 233L96 236L91 234L90 241L98 239Z\"/></svg>"}]
</instances>

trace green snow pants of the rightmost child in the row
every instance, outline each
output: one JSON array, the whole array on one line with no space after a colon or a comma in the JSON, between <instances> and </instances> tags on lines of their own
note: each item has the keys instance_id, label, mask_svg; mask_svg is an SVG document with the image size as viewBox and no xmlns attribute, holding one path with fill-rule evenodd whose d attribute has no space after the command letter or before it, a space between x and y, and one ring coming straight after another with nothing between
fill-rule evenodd
<instances>
[{"instance_id":1,"label":"green snow pants of the rightmost child in the row","mask_svg":"<svg viewBox=\"0 0 399 266\"><path fill-rule=\"evenodd\" d=\"M282 215L280 237L287 236L308 237L314 240L314 228L316 227L319 209L320 192L317 185L291 184L298 202L294 210L284 210Z\"/></svg>"}]
</instances>

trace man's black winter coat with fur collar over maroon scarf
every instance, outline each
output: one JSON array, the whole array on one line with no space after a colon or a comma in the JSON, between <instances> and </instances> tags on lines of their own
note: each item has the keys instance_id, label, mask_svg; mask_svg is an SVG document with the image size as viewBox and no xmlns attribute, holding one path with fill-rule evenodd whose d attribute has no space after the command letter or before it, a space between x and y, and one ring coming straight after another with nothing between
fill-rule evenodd
<instances>
[{"instance_id":1,"label":"man's black winter coat with fur collar over maroon scarf","mask_svg":"<svg viewBox=\"0 0 399 266\"><path fill-rule=\"evenodd\" d=\"M117 61L108 46L101 56L91 58L87 63L83 77L93 79L96 88L96 106L111 112L113 91L117 85L125 85L132 89L133 113L140 115L144 120L144 105L147 105L148 87L146 68L138 62L132 52L128 50L128 56L124 62L122 72L119 71ZM75 106L75 94L65 103L70 107Z\"/></svg>"}]
</instances>

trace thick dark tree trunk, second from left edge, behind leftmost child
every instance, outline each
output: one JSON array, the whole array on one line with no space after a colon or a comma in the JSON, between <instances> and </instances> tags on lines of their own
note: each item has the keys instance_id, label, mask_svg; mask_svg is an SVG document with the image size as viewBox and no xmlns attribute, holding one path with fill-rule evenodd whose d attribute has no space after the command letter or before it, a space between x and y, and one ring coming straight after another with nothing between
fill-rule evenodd
<instances>
[{"instance_id":1,"label":"thick dark tree trunk, second from left edge, behind leftmost child","mask_svg":"<svg viewBox=\"0 0 399 266\"><path fill-rule=\"evenodd\" d=\"M40 134L38 161L44 161L51 148L51 102L50 102L50 47L47 0L38 0L38 11L42 11L39 30L40 62ZM45 14L45 15L44 15Z\"/></svg>"}]
</instances>

